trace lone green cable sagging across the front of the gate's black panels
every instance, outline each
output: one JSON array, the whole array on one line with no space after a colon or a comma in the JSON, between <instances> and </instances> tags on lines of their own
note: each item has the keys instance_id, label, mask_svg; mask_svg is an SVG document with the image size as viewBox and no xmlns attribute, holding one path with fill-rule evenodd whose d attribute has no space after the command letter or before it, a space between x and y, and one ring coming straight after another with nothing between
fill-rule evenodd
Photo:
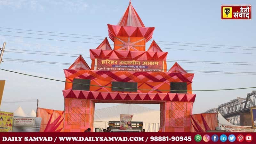
<instances>
[{"instance_id":1,"label":"lone green cable sagging across the front of the gate's black panels","mask_svg":"<svg viewBox=\"0 0 256 144\"><path fill-rule=\"evenodd\" d=\"M17 73L17 74L21 74L21 75L26 75L26 76L33 76L33 77L37 77L37 78L53 80L53 81L66 82L66 83L72 83L72 84L81 84L81 83L67 82L67 81L62 81L62 80L57 80L57 79L52 79L52 78L46 78L46 77L41 77L41 76L34 76L34 75L24 74L24 73L15 72L15 71L11 71L11 70L6 70L6 69L2 69L2 68L0 68L0 70L12 72L12 73ZM130 89L130 90L144 90L144 91L168 91L168 92L171 91L171 90L152 90L152 89L134 89L134 88L122 88L122 87L110 87L110 86L101 86L101 85L93 85L93 84L82 84L82 85L107 87L107 88ZM187 90L187 92L191 92L191 91L193 91L193 92L195 92L195 91L227 91L227 90L239 90L239 89L251 89L251 88L256 88L256 87L233 88L233 89L214 89L214 90ZM183 91L180 91L180 90L172 90L172 91L183 92Z\"/></svg>"}]
</instances>

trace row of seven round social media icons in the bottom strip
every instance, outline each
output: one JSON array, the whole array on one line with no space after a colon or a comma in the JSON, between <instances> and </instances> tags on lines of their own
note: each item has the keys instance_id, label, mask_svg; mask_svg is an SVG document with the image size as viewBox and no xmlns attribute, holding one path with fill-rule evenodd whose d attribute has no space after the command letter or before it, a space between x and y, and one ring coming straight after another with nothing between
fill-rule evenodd
<instances>
[{"instance_id":1,"label":"row of seven round social media icons in the bottom strip","mask_svg":"<svg viewBox=\"0 0 256 144\"><path fill-rule=\"evenodd\" d=\"M235 136L234 134L230 134L228 137L225 134L220 135L220 137L217 134L212 135L212 137L210 137L210 135L205 134L202 138L202 136L200 134L195 135L195 141L196 142L200 142L201 140L204 140L204 142L209 142L210 140L212 140L213 142L217 142L218 140L220 140L221 142L225 142L225 141L230 141L230 142L234 142L235 140L237 140L238 142L242 142L242 141L247 141L247 142L251 142L252 141L252 135L248 134L244 137L244 135L239 134L237 136Z\"/></svg>"}]
</instances>

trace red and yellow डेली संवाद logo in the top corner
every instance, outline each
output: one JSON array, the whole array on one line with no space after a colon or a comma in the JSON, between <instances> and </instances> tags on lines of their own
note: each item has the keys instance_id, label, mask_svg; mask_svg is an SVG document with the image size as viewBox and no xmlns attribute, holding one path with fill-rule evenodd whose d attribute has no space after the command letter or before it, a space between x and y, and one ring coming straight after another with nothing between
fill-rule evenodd
<instances>
[{"instance_id":1,"label":"red and yellow \u0921\u0947\u0932\u0940 \u0938\u0902\u0935\u093e\u0926 logo in the top corner","mask_svg":"<svg viewBox=\"0 0 256 144\"><path fill-rule=\"evenodd\" d=\"M251 20L252 6L247 5L221 5L221 20Z\"/></svg>"}]
</instances>

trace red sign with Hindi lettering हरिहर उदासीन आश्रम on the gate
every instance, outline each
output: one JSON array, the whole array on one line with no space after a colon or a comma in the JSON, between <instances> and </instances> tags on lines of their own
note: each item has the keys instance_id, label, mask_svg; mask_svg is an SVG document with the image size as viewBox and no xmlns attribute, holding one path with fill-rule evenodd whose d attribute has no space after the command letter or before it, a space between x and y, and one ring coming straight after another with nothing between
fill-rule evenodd
<instances>
[{"instance_id":1,"label":"red sign with Hindi lettering \u0939\u0930\u093f\u0939\u0930 \u0909\u0926\u093e\u0938\u0940\u0928 \u0906\u0936\u094d\u0930\u092e on the gate","mask_svg":"<svg viewBox=\"0 0 256 144\"><path fill-rule=\"evenodd\" d=\"M94 70L111 71L145 71L160 72L164 71L164 61L143 61L143 60L108 60L95 59Z\"/></svg>"}]
</instances>

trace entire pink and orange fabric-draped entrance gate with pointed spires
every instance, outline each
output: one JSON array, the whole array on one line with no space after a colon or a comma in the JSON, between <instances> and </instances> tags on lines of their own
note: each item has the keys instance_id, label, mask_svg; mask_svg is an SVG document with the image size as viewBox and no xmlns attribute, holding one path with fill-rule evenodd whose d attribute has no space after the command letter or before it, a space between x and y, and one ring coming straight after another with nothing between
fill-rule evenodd
<instances>
[{"instance_id":1,"label":"entire pink and orange fabric-draped entrance gate with pointed spires","mask_svg":"<svg viewBox=\"0 0 256 144\"><path fill-rule=\"evenodd\" d=\"M93 128L94 106L104 103L160 104L163 132L190 132L190 115L195 101L194 74L178 63L167 72L166 57L152 38L154 27L145 27L130 3L117 25L108 24L107 37L90 50L91 67L80 55L64 69L66 84L64 132Z\"/></svg>"}]
</instances>

